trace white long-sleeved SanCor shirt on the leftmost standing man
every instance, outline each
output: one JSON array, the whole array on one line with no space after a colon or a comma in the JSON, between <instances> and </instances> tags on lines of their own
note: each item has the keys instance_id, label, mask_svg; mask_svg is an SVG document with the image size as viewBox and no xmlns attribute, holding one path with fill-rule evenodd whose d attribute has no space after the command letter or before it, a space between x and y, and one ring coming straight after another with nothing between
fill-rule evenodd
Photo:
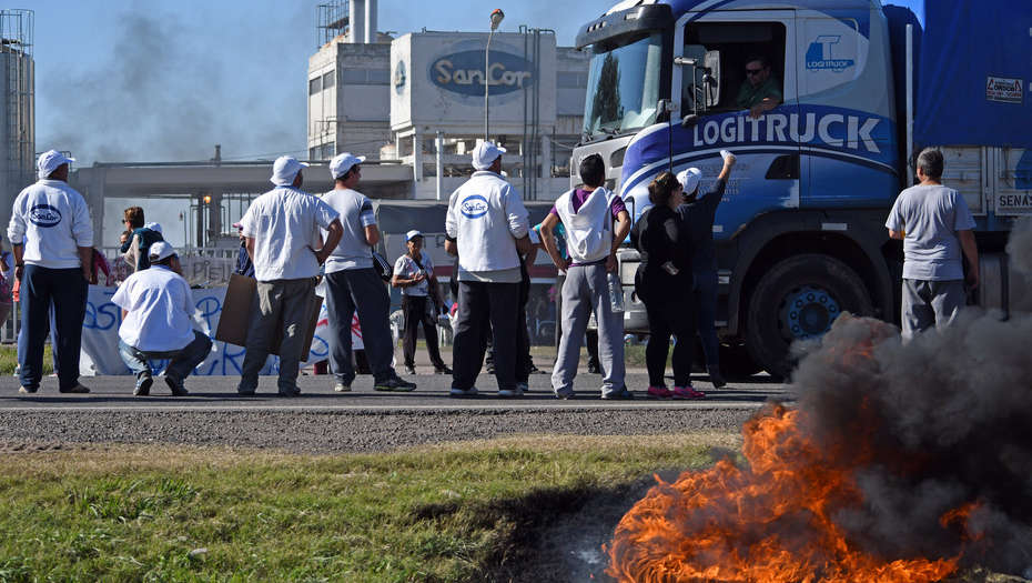
<instances>
[{"instance_id":1,"label":"white long-sleeved SanCor shirt on the leftmost standing man","mask_svg":"<svg viewBox=\"0 0 1032 583\"><path fill-rule=\"evenodd\" d=\"M50 269L81 264L80 247L93 247L93 221L82 194L61 180L40 180L14 199L7 238L24 241L24 262Z\"/></svg>"}]
</instances>

